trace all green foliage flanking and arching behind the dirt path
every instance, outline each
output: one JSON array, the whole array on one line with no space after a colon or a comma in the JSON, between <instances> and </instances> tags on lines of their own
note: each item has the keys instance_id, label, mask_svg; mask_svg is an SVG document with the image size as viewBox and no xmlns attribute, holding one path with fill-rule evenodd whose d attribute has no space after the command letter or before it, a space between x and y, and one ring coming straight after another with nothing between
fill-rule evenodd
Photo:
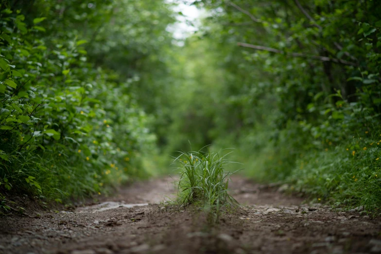
<instances>
[{"instance_id":1,"label":"all green foliage flanking and arching behind the dirt path","mask_svg":"<svg viewBox=\"0 0 381 254\"><path fill-rule=\"evenodd\" d=\"M380 207L381 3L187 3L205 17L179 42L172 1L3 0L0 188L101 193L212 144L257 181Z\"/></svg>"}]
</instances>

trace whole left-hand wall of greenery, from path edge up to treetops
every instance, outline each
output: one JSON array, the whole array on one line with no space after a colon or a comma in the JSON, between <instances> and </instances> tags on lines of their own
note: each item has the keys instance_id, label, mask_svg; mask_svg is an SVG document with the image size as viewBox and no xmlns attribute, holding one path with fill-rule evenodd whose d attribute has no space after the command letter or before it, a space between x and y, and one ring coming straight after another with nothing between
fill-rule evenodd
<instances>
[{"instance_id":1,"label":"whole left-hand wall of greenery, from path edge up to treetops","mask_svg":"<svg viewBox=\"0 0 381 254\"><path fill-rule=\"evenodd\" d=\"M143 166L152 120L133 87L160 70L170 14L155 1L1 1L1 192L61 202L154 173Z\"/></svg>"}]
</instances>

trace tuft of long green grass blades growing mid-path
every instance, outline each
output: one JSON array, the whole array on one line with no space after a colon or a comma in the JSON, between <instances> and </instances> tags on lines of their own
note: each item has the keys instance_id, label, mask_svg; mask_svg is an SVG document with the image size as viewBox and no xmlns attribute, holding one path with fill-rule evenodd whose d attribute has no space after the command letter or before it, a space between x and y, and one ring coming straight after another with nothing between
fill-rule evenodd
<instances>
[{"instance_id":1,"label":"tuft of long green grass blades growing mid-path","mask_svg":"<svg viewBox=\"0 0 381 254\"><path fill-rule=\"evenodd\" d=\"M179 164L179 199L182 203L199 203L205 206L237 204L228 194L229 177L226 171L230 162L218 153L180 152L173 163Z\"/></svg>"}]
</instances>

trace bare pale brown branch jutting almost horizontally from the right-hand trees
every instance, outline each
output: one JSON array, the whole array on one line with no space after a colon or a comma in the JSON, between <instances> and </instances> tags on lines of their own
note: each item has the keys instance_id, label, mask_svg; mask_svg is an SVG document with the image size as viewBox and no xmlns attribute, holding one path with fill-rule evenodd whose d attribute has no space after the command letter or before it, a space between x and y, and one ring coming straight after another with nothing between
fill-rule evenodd
<instances>
[{"instance_id":1,"label":"bare pale brown branch jutting almost horizontally from the right-hand trees","mask_svg":"<svg viewBox=\"0 0 381 254\"><path fill-rule=\"evenodd\" d=\"M289 53L289 52L285 52L285 51L274 49L274 48L269 48L269 47L264 47L264 46L259 46L259 45L253 45L253 44L248 44L248 43L242 43L242 42L238 42L237 45L241 46L241 47L245 47L245 48L274 52L277 54L287 54L287 55L291 55L294 57L311 58L311 59L315 59L315 60L319 60L319 61L323 61L323 62L334 62L334 63L340 63L340 64L344 64L344 65L357 66L356 63L348 62L346 60L332 58L332 57L328 57L328 56L303 54L303 53L293 53L293 52Z\"/></svg>"}]
</instances>

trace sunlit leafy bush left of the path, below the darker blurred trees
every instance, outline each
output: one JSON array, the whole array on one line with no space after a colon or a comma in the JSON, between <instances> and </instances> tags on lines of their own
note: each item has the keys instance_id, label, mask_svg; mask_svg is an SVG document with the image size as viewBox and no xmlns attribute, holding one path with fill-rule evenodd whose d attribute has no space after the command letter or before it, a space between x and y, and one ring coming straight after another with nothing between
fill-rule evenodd
<instances>
[{"instance_id":1,"label":"sunlit leafy bush left of the path, below the darker blurred trees","mask_svg":"<svg viewBox=\"0 0 381 254\"><path fill-rule=\"evenodd\" d=\"M147 177L156 138L137 79L96 67L84 39L44 35L47 21L1 6L0 188L61 201Z\"/></svg>"}]
</instances>

